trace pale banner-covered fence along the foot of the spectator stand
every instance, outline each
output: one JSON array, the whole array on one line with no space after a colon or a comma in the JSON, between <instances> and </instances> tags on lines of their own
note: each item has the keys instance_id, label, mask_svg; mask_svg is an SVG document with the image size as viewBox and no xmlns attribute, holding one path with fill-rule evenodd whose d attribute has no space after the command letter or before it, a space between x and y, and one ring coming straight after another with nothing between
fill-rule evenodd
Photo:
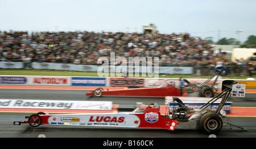
<instances>
[{"instance_id":1,"label":"pale banner-covered fence along the foot of the spectator stand","mask_svg":"<svg viewBox=\"0 0 256 149\"><path fill-rule=\"evenodd\" d=\"M0 61L0 68L53 69L62 71L97 72L98 67L100 67L100 65L37 62L27 64L23 62ZM118 65L115 65L114 67L116 68ZM234 67L232 65L226 65L225 67L229 69L229 76L254 76L256 74L255 66L238 65ZM142 66L134 66L133 71L142 72ZM197 76L211 76L214 74L214 72L216 72L214 65L159 65L159 74L195 74Z\"/></svg>"}]
</instances>

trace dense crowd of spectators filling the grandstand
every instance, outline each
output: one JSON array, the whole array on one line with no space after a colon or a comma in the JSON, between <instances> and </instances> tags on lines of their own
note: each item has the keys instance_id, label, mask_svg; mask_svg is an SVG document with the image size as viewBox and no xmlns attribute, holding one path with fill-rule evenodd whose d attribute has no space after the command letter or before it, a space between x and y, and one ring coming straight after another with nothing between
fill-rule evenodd
<instances>
[{"instance_id":1,"label":"dense crowd of spectators filling the grandstand","mask_svg":"<svg viewBox=\"0 0 256 149\"><path fill-rule=\"evenodd\" d=\"M157 32L28 32L0 34L0 60L97 64L110 52L122 57L159 57L160 66L200 67L202 73L214 72L217 64L230 67L234 74L251 75L255 61L230 61L225 53L215 53L212 44L200 37ZM253 69L252 69L253 68ZM210 70L210 71L209 71ZM248 71L246 71L248 70Z\"/></svg>"}]
</instances>

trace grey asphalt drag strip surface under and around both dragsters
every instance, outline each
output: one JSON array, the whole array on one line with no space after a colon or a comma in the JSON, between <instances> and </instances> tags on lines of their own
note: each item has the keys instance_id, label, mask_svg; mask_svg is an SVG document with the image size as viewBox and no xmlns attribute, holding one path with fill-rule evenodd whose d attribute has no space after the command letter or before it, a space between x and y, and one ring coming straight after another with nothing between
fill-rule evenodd
<instances>
[{"instance_id":1,"label":"grey asphalt drag strip surface under and around both dragsters","mask_svg":"<svg viewBox=\"0 0 256 149\"><path fill-rule=\"evenodd\" d=\"M0 86L1 88L1 86ZM113 101L115 105L131 106L136 102L144 104L158 103L164 105L164 98L130 98L130 97L92 97L88 98L85 93L88 90L59 90L59 89L0 89L1 99L28 99L28 100L87 100L87 101ZM256 107L254 93L246 94L243 99L230 99L232 106L236 107ZM40 135L46 137L61 138L179 138L179 137L200 137L208 138L209 135L201 133L199 130L161 130L161 129L111 129L99 127L79 127L79 126L52 126L42 125L32 128L26 124L20 126L13 125L13 121L23 119L31 113L1 112L0 113L0 137L7 138L37 138ZM247 129L242 131L229 125L222 127L216 135L217 138L254 138L256 137L256 117L228 117L228 122Z\"/></svg>"}]
</instances>

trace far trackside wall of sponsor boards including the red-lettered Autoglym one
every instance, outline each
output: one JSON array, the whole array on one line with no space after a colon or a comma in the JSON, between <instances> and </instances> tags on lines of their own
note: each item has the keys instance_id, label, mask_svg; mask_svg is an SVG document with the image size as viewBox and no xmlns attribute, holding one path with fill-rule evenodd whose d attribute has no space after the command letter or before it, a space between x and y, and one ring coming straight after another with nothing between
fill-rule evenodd
<instances>
[{"instance_id":1,"label":"far trackside wall of sponsor boards including the red-lettered Autoglym one","mask_svg":"<svg viewBox=\"0 0 256 149\"><path fill-rule=\"evenodd\" d=\"M187 78L193 84L200 85L206 78ZM216 86L221 89L222 81L218 79ZM207 85L211 86L214 80ZM236 80L246 84L246 89L256 89L256 80ZM138 86L157 87L159 85L175 82L179 86L177 78L126 78L126 77L65 77L65 76L3 76L0 75L0 85L47 85L47 86Z\"/></svg>"}]
</instances>

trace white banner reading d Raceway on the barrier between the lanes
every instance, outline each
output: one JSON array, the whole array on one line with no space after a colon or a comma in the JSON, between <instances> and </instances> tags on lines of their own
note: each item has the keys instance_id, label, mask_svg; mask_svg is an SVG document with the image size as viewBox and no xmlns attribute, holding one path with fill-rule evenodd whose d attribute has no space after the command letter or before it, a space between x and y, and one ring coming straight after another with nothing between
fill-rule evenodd
<instances>
[{"instance_id":1,"label":"white banner reading d Raceway on the barrier between the lanes","mask_svg":"<svg viewBox=\"0 0 256 149\"><path fill-rule=\"evenodd\" d=\"M0 100L0 108L112 110L112 101Z\"/></svg>"}]
</instances>

